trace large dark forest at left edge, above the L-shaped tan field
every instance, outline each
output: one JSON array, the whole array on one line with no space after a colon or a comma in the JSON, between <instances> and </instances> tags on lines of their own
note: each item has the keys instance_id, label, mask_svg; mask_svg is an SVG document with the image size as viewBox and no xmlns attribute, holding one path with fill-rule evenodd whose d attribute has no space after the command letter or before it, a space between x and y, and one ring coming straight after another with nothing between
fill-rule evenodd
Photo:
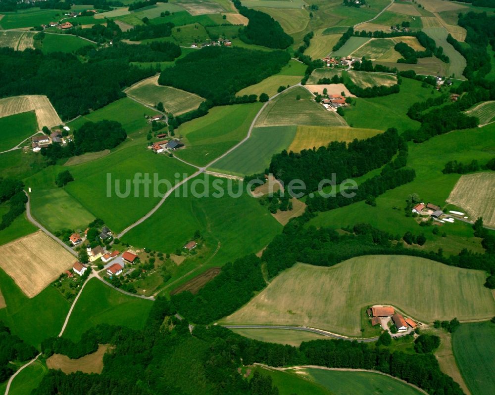
<instances>
[{"instance_id":1,"label":"large dark forest at left edge, above the L-shaped tan field","mask_svg":"<svg viewBox=\"0 0 495 395\"><path fill-rule=\"evenodd\" d=\"M0 48L0 64L0 97L47 95L62 120L124 97L122 88L154 74L152 69L131 66L126 59L82 63L75 55L61 52L44 55L38 49L21 52Z\"/></svg>"}]
</instances>

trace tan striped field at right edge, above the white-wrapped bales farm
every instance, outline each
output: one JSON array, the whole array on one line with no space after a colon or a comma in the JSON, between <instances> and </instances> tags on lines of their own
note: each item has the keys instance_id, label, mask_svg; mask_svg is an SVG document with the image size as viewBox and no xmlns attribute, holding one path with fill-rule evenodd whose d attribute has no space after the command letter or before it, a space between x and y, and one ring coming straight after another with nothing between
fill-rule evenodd
<instances>
[{"instance_id":1,"label":"tan striped field at right edge, above the white-wrapped bales farm","mask_svg":"<svg viewBox=\"0 0 495 395\"><path fill-rule=\"evenodd\" d=\"M483 223L495 226L495 173L461 176L447 203L461 207L471 217L483 217Z\"/></svg>"}]
</instances>

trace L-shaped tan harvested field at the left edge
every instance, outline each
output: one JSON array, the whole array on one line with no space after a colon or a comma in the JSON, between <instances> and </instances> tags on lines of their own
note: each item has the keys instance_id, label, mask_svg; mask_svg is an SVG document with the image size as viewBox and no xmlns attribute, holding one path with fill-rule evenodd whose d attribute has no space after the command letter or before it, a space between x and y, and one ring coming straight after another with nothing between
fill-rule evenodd
<instances>
[{"instance_id":1,"label":"L-shaped tan harvested field at the left edge","mask_svg":"<svg viewBox=\"0 0 495 395\"><path fill-rule=\"evenodd\" d=\"M44 126L51 128L62 124L47 96L25 95L0 99L0 118L33 110L38 119L39 130Z\"/></svg>"}]
</instances>

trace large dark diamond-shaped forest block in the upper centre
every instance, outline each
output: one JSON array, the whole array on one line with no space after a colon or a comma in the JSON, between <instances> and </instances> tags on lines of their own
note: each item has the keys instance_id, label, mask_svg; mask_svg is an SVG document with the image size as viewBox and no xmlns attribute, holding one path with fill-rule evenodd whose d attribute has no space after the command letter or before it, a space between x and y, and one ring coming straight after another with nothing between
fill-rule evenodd
<instances>
[{"instance_id":1,"label":"large dark diamond-shaped forest block in the upper centre","mask_svg":"<svg viewBox=\"0 0 495 395\"><path fill-rule=\"evenodd\" d=\"M237 91L278 73L290 58L285 51L208 46L178 59L158 84L197 93L214 105L229 104Z\"/></svg>"}]
</instances>

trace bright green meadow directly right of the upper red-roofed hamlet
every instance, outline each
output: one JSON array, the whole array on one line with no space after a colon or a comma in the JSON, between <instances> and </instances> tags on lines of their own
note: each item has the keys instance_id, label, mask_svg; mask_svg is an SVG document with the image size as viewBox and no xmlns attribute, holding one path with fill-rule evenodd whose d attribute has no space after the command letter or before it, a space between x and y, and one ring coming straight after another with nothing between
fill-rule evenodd
<instances>
[{"instance_id":1,"label":"bright green meadow directly right of the upper red-roofed hamlet","mask_svg":"<svg viewBox=\"0 0 495 395\"><path fill-rule=\"evenodd\" d=\"M433 94L431 93L433 91ZM432 87L422 88L419 81L402 79L400 92L388 96L355 98L356 105L344 110L344 118L355 128L386 130L396 128L399 132L418 129L420 124L406 113L411 104L440 95Z\"/></svg>"}]
</instances>

